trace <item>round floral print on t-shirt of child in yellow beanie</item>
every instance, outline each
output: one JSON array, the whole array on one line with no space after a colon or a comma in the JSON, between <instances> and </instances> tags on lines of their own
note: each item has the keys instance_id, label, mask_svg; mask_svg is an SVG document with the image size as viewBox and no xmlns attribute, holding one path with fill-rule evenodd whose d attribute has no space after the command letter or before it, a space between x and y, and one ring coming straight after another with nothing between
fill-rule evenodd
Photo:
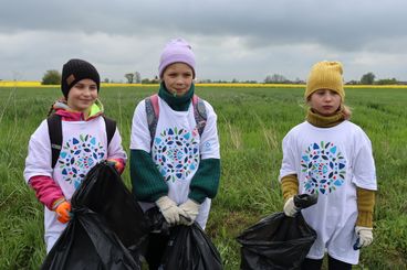
<instances>
[{"instance_id":1,"label":"round floral print on t-shirt of child in yellow beanie","mask_svg":"<svg viewBox=\"0 0 407 270\"><path fill-rule=\"evenodd\" d=\"M345 181L346 160L332 142L311 143L301 156L301 171L306 193L330 194Z\"/></svg>"}]
</instances>

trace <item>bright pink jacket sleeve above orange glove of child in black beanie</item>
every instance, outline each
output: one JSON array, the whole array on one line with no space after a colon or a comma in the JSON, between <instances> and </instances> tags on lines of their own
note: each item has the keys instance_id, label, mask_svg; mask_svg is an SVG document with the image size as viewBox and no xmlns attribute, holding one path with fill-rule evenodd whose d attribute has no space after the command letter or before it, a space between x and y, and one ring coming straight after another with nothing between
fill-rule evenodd
<instances>
[{"instance_id":1,"label":"bright pink jacket sleeve above orange glove of child in black beanie","mask_svg":"<svg viewBox=\"0 0 407 270\"><path fill-rule=\"evenodd\" d=\"M33 176L29 183L35 191L36 198L50 210L53 209L53 204L56 201L64 197L61 187L49 176Z\"/></svg>"}]
</instances>

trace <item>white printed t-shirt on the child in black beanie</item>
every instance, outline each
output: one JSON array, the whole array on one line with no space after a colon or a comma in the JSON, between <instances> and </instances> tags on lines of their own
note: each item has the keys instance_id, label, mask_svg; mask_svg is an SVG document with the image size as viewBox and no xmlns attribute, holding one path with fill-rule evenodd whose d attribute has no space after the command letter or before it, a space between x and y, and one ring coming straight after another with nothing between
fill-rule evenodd
<instances>
[{"instance_id":1,"label":"white printed t-shirt on the child in black beanie","mask_svg":"<svg viewBox=\"0 0 407 270\"><path fill-rule=\"evenodd\" d=\"M51 142L46 120L31 136L25 159L24 179L44 175L52 177L61 187L67 201L81 185L87 172L100 161L123 159L122 138L116 129L107 149L105 121L97 117L90 121L62 121L62 149L55 168L51 168ZM44 207L44 229L46 250L50 251L66 224L60 223L55 212Z\"/></svg>"}]
</instances>

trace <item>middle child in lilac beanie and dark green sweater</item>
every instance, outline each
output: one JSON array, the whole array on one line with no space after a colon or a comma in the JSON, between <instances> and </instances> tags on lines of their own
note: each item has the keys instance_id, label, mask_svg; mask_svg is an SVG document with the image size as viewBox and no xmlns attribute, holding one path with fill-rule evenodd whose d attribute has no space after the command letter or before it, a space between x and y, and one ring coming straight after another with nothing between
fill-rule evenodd
<instances>
[{"instance_id":1,"label":"middle child in lilac beanie and dark green sweater","mask_svg":"<svg viewBox=\"0 0 407 270\"><path fill-rule=\"evenodd\" d=\"M157 205L171 226L196 222L205 228L210 198L218 191L220 155L217 115L194 95L195 67L185 40L165 46L158 95L140 101L134 112L131 176L133 194L144 209ZM167 241L164 234L150 234L145 256L149 269L159 267Z\"/></svg>"}]
</instances>

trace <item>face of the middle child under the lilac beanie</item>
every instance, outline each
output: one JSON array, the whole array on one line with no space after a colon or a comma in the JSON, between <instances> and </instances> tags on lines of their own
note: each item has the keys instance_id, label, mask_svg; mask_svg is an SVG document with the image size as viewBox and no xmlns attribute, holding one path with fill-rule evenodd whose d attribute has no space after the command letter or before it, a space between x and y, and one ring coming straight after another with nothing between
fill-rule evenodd
<instances>
[{"instance_id":1,"label":"face of the middle child under the lilac beanie","mask_svg":"<svg viewBox=\"0 0 407 270\"><path fill-rule=\"evenodd\" d=\"M192 68L184 63L174 63L167 66L163 74L165 86L168 91L176 96L184 96L189 90L192 79Z\"/></svg>"}]
</instances>

